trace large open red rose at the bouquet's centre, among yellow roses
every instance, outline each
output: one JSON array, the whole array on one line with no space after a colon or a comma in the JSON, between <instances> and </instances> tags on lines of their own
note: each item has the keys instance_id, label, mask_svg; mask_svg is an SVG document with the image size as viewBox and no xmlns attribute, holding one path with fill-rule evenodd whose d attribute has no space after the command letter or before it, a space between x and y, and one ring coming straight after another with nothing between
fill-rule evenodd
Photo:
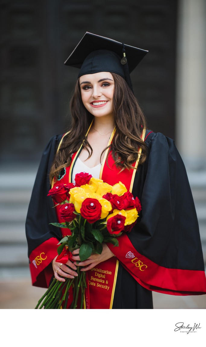
<instances>
[{"instance_id":1,"label":"large open red rose at the bouquet's centre, among yellow roses","mask_svg":"<svg viewBox=\"0 0 206 347\"><path fill-rule=\"evenodd\" d=\"M100 219L102 206L97 199L87 197L81 205L80 212L82 217L92 224Z\"/></svg>"}]
</instances>

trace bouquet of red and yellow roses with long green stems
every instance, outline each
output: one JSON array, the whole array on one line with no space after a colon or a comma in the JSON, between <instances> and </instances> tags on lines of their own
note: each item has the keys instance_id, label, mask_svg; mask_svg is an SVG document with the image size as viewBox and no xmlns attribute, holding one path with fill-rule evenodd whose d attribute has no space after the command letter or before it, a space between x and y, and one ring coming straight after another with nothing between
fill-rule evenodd
<instances>
[{"instance_id":1,"label":"bouquet of red and yellow roses with long green stems","mask_svg":"<svg viewBox=\"0 0 206 347\"><path fill-rule=\"evenodd\" d=\"M121 182L111 186L85 172L75 176L75 184L59 184L49 191L55 206L58 205L61 223L51 223L67 228L57 248L56 262L66 264L71 252L79 249L81 261L92 253L102 253L102 243L118 246L122 232L130 232L135 225L141 205L138 197L127 191ZM86 288L85 272L77 266L78 277L65 278L60 282L54 278L49 289L35 308L67 308L70 287L73 301L70 308L83 308Z\"/></svg>"}]
</instances>

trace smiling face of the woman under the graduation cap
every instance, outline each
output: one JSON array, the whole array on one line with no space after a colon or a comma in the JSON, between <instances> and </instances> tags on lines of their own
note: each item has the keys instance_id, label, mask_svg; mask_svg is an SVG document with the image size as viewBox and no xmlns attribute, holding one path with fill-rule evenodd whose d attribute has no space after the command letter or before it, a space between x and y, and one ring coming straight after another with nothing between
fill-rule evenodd
<instances>
[{"instance_id":1,"label":"smiling face of the woman under the graduation cap","mask_svg":"<svg viewBox=\"0 0 206 347\"><path fill-rule=\"evenodd\" d=\"M94 117L113 118L114 79L110 72L83 75L79 78L81 99Z\"/></svg>"}]
</instances>

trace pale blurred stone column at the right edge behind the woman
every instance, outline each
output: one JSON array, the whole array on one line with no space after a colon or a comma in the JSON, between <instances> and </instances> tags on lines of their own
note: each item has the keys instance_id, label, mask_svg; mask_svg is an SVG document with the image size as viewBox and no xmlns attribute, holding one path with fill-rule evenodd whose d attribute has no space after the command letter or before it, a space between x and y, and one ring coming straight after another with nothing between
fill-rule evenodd
<instances>
[{"instance_id":1,"label":"pale blurred stone column at the right edge behind the woman","mask_svg":"<svg viewBox=\"0 0 206 347\"><path fill-rule=\"evenodd\" d=\"M206 0L179 0L176 144L189 170L206 168Z\"/></svg>"}]
</instances>

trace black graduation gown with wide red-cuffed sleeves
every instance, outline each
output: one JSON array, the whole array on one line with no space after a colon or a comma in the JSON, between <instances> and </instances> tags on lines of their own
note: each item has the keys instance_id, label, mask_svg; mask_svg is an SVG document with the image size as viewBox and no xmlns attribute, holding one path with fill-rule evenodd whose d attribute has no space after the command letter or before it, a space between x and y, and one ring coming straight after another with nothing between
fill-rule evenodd
<instances>
[{"instance_id":1,"label":"black graduation gown with wide red-cuffed sleeves","mask_svg":"<svg viewBox=\"0 0 206 347\"><path fill-rule=\"evenodd\" d=\"M172 139L148 133L147 160L138 167L132 189L141 201L140 218L127 239L121 237L124 244L112 248L120 261L112 308L152 308L152 290L174 295L206 293L198 221L184 164ZM31 275L32 252L52 238L61 239L60 230L49 225L57 217L47 197L49 170L61 137L52 137L43 152L29 203L26 236ZM126 244L129 251L134 249L132 261L123 254ZM51 259L37 259L41 270L38 276L32 275L33 285L48 287L52 259L53 254Z\"/></svg>"}]
</instances>

